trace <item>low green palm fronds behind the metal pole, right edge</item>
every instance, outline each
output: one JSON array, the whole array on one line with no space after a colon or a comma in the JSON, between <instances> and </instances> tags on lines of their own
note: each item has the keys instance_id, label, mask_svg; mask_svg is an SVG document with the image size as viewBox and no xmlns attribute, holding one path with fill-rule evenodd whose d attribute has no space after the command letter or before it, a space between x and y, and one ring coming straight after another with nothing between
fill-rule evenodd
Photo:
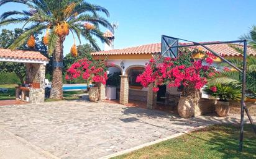
<instances>
[{"instance_id":1,"label":"low green palm fronds behind the metal pole, right edge","mask_svg":"<svg viewBox=\"0 0 256 159\"><path fill-rule=\"evenodd\" d=\"M243 59L242 58L229 58L235 66L242 69ZM223 63L222 66L229 67L228 64ZM255 56L247 57L247 74L246 74L246 96L249 98L256 98L256 58ZM222 70L219 74L214 75L214 77L209 80L209 85L224 84L231 85L234 89L242 89L242 74L238 71L225 71Z\"/></svg>"}]
</instances>

